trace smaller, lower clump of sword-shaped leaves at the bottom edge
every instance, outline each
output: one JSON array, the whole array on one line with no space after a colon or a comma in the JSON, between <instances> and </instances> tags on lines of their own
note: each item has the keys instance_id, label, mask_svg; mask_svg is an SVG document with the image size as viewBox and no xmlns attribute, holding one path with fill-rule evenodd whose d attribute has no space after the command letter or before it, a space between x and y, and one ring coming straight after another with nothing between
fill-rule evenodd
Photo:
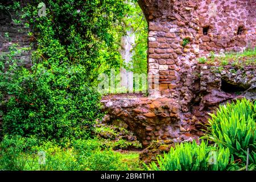
<instances>
[{"instance_id":1,"label":"smaller, lower clump of sword-shaped leaves at the bottom edge","mask_svg":"<svg viewBox=\"0 0 256 182\"><path fill-rule=\"evenodd\" d=\"M156 171L222 171L229 164L229 149L207 146L204 140L197 145L181 143L171 148L168 154L158 156L157 162L152 162L150 168Z\"/></svg>"}]
</instances>

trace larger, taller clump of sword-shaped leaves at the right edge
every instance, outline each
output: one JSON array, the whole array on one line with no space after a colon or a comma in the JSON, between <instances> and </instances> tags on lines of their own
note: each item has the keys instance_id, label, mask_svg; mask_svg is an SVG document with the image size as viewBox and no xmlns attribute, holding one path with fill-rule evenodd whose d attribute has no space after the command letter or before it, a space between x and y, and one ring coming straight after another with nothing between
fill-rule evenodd
<instances>
[{"instance_id":1,"label":"larger, taller clump of sword-shaped leaves at the right edge","mask_svg":"<svg viewBox=\"0 0 256 182\"><path fill-rule=\"evenodd\" d=\"M256 102L237 100L236 103L221 105L216 114L210 116L205 138L218 146L228 147L230 153L243 162L246 162L249 148L250 162L255 163L252 152L256 151Z\"/></svg>"}]
</instances>

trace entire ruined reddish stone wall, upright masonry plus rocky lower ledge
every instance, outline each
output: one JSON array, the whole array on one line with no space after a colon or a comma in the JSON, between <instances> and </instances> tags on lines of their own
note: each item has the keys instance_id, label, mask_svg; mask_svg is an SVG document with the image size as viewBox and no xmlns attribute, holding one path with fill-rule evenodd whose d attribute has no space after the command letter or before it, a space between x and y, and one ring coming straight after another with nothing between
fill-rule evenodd
<instances>
[{"instance_id":1,"label":"entire ruined reddish stone wall, upright masonry plus rocky lower ledge","mask_svg":"<svg viewBox=\"0 0 256 182\"><path fill-rule=\"evenodd\" d=\"M197 140L208 113L218 105L243 97L255 100L255 67L220 69L197 63L210 51L255 47L255 1L138 2L149 25L149 97L103 98L109 120L125 121L144 147L152 140L176 143Z\"/></svg>"}]
</instances>

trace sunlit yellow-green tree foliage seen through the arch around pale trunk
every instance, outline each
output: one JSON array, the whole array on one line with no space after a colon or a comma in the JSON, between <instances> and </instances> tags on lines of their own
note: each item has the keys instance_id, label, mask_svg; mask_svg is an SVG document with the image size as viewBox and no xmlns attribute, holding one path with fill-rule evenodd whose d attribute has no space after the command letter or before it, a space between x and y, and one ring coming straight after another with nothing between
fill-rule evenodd
<instances>
[{"instance_id":1,"label":"sunlit yellow-green tree foliage seen through the arch around pale trunk","mask_svg":"<svg viewBox=\"0 0 256 182\"><path fill-rule=\"evenodd\" d=\"M100 54L102 59L108 59L111 64L101 64L99 72L106 73L110 76L110 71L114 70L115 76L120 73L120 67L125 68L127 71L132 71L134 74L143 74L147 77L147 37L148 37L148 25L144 17L144 14L139 7L138 3L134 0L126 1L127 11L122 18L122 26L113 24L112 29L109 31L113 35L114 43L112 50L106 51L106 48L102 48ZM127 36L127 31L131 32L130 36L135 35L135 43L131 44L132 56L129 63L125 63L120 55L122 49L121 38ZM113 52L113 53L112 53ZM134 75L134 88L137 77ZM145 79L147 80L147 79ZM115 84L119 83L119 79L115 80ZM139 84L138 89L134 89L134 92L146 92L147 84ZM113 90L109 90L111 93L123 93L127 92L126 88L121 86Z\"/></svg>"}]
</instances>

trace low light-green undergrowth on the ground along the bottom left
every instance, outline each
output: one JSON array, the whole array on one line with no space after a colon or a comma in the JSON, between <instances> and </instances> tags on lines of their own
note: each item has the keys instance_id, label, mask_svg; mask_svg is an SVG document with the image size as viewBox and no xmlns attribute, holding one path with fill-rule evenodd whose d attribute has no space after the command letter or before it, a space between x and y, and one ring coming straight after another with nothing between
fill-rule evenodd
<instances>
[{"instance_id":1,"label":"low light-green undergrowth on the ground along the bottom left","mask_svg":"<svg viewBox=\"0 0 256 182\"><path fill-rule=\"evenodd\" d=\"M119 154L101 148L96 139L73 140L68 148L34 138L4 138L0 143L0 170L127 170L139 169L138 154ZM45 152L45 163L39 163Z\"/></svg>"}]
</instances>

